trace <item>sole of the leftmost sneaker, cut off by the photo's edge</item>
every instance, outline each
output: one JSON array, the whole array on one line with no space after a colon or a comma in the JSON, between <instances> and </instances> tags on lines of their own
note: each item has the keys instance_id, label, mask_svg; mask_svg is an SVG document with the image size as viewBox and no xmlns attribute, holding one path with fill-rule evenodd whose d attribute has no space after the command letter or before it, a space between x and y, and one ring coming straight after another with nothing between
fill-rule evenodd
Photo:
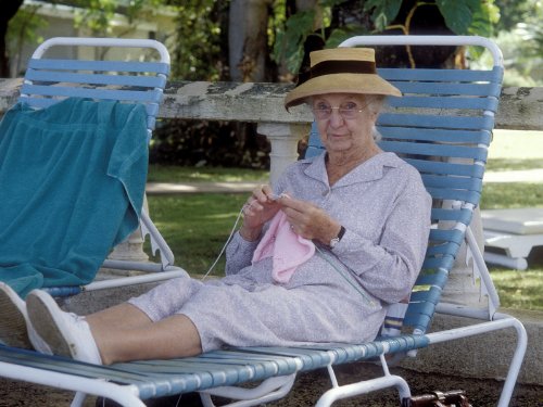
<instances>
[{"instance_id":1,"label":"sole of the leftmost sneaker, cut off by the photo's edge","mask_svg":"<svg viewBox=\"0 0 543 407\"><path fill-rule=\"evenodd\" d=\"M0 289L0 341L11 347L34 349L28 340L26 320L23 311L15 305L15 298L3 287ZM18 298L17 298L18 300Z\"/></svg>"}]
</instances>

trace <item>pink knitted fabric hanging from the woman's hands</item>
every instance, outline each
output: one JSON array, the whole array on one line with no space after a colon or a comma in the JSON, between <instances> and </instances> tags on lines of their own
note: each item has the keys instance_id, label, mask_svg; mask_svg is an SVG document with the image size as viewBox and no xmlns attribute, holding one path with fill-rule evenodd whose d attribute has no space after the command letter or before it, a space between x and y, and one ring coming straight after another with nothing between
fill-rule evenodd
<instances>
[{"instance_id":1,"label":"pink knitted fabric hanging from the woman's hands","mask_svg":"<svg viewBox=\"0 0 543 407\"><path fill-rule=\"evenodd\" d=\"M289 282L296 267L315 254L315 244L290 229L287 215L278 212L253 254L253 263L273 256L272 277Z\"/></svg>"}]
</instances>

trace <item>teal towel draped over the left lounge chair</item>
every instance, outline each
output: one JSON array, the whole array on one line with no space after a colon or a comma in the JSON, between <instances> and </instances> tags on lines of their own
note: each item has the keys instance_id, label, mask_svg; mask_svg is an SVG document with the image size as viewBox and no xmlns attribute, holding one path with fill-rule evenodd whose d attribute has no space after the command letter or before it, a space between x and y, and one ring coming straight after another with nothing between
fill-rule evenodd
<instances>
[{"instance_id":1,"label":"teal towel draped over the left lounge chair","mask_svg":"<svg viewBox=\"0 0 543 407\"><path fill-rule=\"evenodd\" d=\"M86 284L138 226L146 109L71 98L0 124L0 280L22 297Z\"/></svg>"}]
</instances>

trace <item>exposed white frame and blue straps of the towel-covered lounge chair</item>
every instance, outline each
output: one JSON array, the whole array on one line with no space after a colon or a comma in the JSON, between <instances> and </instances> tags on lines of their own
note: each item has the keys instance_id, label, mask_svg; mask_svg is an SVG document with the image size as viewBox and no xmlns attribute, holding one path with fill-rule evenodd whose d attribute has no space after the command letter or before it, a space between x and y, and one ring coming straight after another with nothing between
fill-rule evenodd
<instances>
[{"instance_id":1,"label":"exposed white frame and blue straps of the towel-covered lounge chair","mask_svg":"<svg viewBox=\"0 0 543 407\"><path fill-rule=\"evenodd\" d=\"M156 53L159 61L84 61L46 56L48 51L60 47L150 50ZM36 109L47 107L70 97L141 103L146 106L148 114L147 131L150 140L169 74L169 62L167 49L155 40L50 38L34 51L18 100ZM102 267L114 270L143 271L144 275L93 281L84 287L51 288L48 291L54 296L70 296L83 291L157 282L182 276L185 271L174 265L175 258L172 250L144 208L141 212L140 228L142 238L150 237L152 253L156 254L159 251L160 263L105 259Z\"/></svg>"}]
</instances>

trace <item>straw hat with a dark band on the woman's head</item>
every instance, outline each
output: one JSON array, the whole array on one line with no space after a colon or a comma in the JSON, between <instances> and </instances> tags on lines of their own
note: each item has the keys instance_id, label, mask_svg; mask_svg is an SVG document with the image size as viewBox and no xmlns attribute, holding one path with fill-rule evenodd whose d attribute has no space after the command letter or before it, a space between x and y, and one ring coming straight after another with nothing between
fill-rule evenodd
<instances>
[{"instance_id":1,"label":"straw hat with a dark band on the woman's head","mask_svg":"<svg viewBox=\"0 0 543 407\"><path fill-rule=\"evenodd\" d=\"M285 97L285 107L325 93L362 93L401 97L402 92L377 75L371 48L333 48L310 54L308 79Z\"/></svg>"}]
</instances>

